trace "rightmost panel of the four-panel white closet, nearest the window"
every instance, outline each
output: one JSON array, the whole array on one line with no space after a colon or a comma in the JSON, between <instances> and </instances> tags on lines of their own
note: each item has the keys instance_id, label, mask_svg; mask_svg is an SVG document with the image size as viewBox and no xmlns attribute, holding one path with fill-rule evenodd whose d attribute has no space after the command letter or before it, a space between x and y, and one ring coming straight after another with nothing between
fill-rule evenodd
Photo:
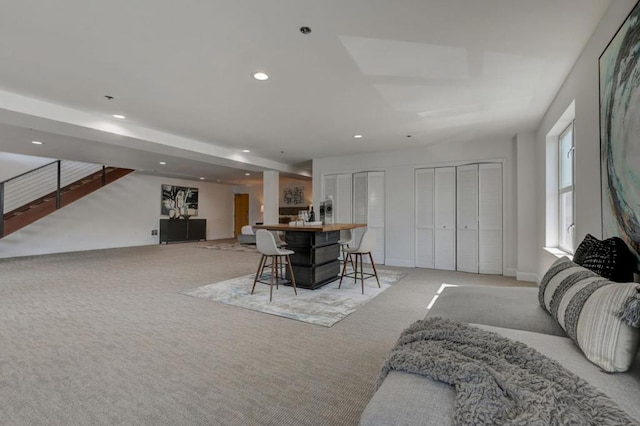
<instances>
[{"instance_id":1,"label":"rightmost panel of the four-panel white closet, nearest the window","mask_svg":"<svg viewBox=\"0 0 640 426\"><path fill-rule=\"evenodd\" d=\"M502 274L502 164L479 166L479 270Z\"/></svg>"}]
</instances>

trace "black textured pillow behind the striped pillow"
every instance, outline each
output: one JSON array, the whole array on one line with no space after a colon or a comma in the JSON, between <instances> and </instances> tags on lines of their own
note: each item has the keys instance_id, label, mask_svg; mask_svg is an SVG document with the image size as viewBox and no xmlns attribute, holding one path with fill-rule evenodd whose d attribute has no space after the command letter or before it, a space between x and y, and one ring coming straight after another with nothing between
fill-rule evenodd
<instances>
[{"instance_id":1,"label":"black textured pillow behind the striped pillow","mask_svg":"<svg viewBox=\"0 0 640 426\"><path fill-rule=\"evenodd\" d=\"M595 237L592 237L595 239ZM591 247L582 261L582 266L596 274L616 282L633 281L635 262L626 243L618 238L590 241ZM575 263L575 262L574 262Z\"/></svg>"}]
</instances>

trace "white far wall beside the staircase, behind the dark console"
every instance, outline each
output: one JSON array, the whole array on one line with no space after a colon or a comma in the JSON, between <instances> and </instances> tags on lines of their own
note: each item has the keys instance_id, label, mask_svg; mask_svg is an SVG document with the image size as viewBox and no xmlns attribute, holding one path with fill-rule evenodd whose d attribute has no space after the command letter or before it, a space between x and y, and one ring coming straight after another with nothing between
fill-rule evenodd
<instances>
[{"instance_id":1,"label":"white far wall beside the staircase, behind the dark console","mask_svg":"<svg viewBox=\"0 0 640 426\"><path fill-rule=\"evenodd\" d=\"M230 186L132 173L0 239L0 258L158 244L162 184L199 188L207 239L233 237Z\"/></svg>"}]
</instances>

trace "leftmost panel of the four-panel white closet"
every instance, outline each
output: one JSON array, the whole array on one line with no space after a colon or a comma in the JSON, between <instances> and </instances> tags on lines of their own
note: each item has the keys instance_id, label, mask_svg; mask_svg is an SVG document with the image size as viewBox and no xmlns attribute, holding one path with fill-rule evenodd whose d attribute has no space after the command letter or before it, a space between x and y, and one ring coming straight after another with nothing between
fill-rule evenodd
<instances>
[{"instance_id":1,"label":"leftmost panel of the four-panel white closet","mask_svg":"<svg viewBox=\"0 0 640 426\"><path fill-rule=\"evenodd\" d=\"M434 267L434 193L435 170L416 170L416 266Z\"/></svg>"}]
</instances>

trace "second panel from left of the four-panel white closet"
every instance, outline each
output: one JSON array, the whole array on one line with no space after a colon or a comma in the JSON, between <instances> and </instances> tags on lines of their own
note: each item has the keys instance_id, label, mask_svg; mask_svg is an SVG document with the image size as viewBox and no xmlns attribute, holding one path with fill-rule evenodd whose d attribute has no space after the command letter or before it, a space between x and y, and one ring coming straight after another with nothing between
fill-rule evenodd
<instances>
[{"instance_id":1,"label":"second panel from left of the four-panel white closet","mask_svg":"<svg viewBox=\"0 0 640 426\"><path fill-rule=\"evenodd\" d=\"M435 171L435 268L456 269L456 168Z\"/></svg>"}]
</instances>

